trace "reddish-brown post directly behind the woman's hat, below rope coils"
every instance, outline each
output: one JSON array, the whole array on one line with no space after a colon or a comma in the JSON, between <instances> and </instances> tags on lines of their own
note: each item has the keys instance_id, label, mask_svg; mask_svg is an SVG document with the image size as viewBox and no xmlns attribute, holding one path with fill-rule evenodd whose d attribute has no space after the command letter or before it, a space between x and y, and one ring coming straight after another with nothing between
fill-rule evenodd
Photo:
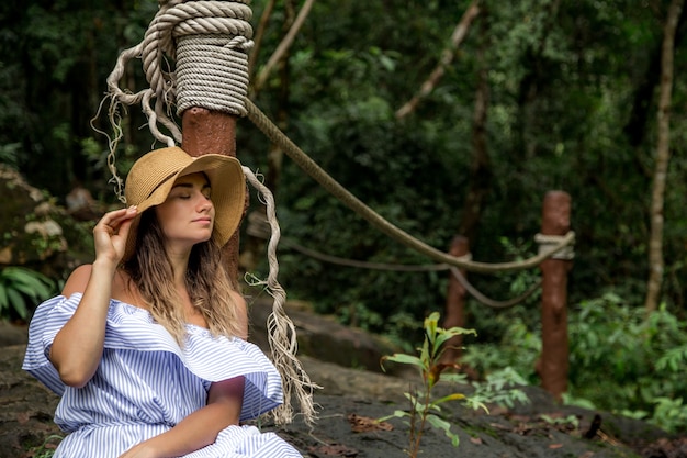
<instances>
[{"instance_id":1,"label":"reddish-brown post directly behind the woman's hat, below rope coils","mask_svg":"<svg viewBox=\"0 0 687 458\"><path fill-rule=\"evenodd\" d=\"M236 116L192 107L181 114L181 147L191 156L222 154L236 157ZM236 231L224 246L226 266L235 286L238 283L238 235Z\"/></svg>"}]
</instances>

